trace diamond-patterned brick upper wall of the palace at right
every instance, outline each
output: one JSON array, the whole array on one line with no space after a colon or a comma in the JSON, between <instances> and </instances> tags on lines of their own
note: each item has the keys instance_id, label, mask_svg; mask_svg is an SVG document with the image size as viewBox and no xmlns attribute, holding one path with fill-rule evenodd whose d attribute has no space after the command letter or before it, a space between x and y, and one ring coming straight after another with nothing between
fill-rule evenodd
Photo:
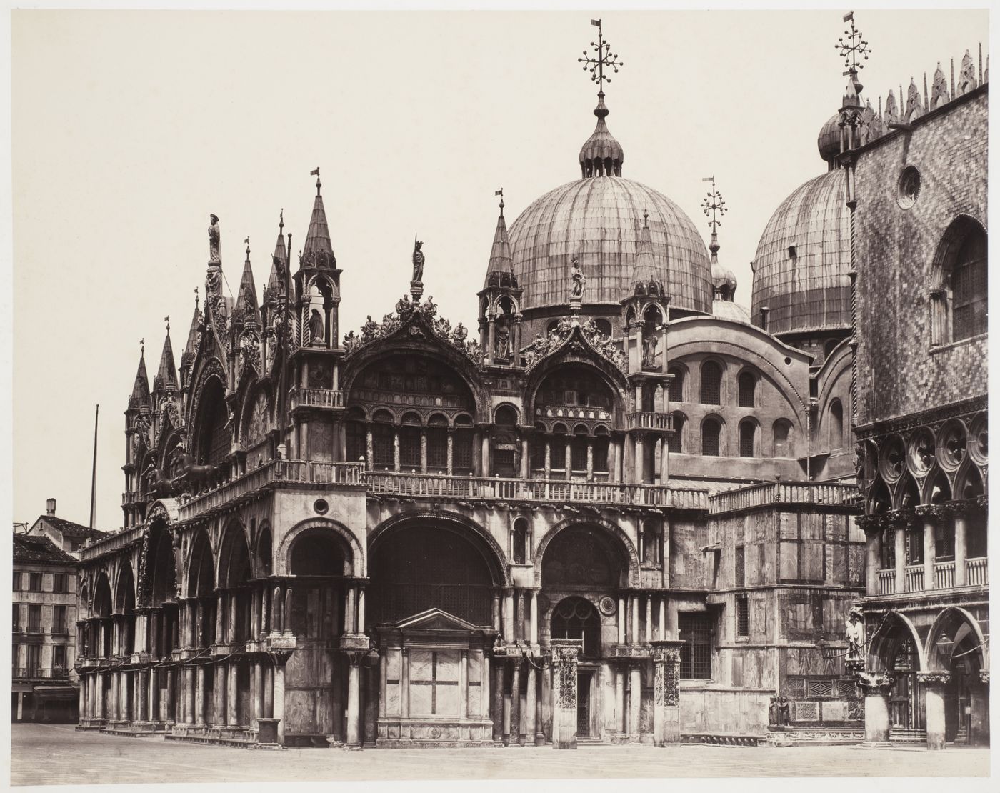
<instances>
[{"instance_id":1,"label":"diamond-patterned brick upper wall of the palace at right","mask_svg":"<svg viewBox=\"0 0 1000 793\"><path fill-rule=\"evenodd\" d=\"M931 349L932 263L960 214L986 226L983 92L859 156L857 166L858 423L904 416L986 391L986 338ZM920 171L901 209L904 167Z\"/></svg>"}]
</instances>

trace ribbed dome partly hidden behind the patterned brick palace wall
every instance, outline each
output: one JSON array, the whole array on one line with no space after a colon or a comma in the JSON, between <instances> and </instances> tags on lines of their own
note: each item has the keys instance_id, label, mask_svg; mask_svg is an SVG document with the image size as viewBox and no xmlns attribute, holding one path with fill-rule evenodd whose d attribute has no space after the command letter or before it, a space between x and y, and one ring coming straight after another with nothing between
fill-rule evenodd
<instances>
[{"instance_id":1,"label":"ribbed dome partly hidden behind the patterned brick palace wall","mask_svg":"<svg viewBox=\"0 0 1000 793\"><path fill-rule=\"evenodd\" d=\"M844 172L810 179L771 216L757 245L750 312L771 333L850 327L850 215Z\"/></svg>"}]
</instances>

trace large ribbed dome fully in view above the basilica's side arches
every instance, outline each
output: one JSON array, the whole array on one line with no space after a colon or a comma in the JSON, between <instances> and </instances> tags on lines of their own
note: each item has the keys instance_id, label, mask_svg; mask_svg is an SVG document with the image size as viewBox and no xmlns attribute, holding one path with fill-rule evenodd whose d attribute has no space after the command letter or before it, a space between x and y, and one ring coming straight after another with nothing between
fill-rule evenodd
<instances>
[{"instance_id":1,"label":"large ribbed dome fully in view above the basilica's side arches","mask_svg":"<svg viewBox=\"0 0 1000 793\"><path fill-rule=\"evenodd\" d=\"M653 263L671 307L710 313L708 252L690 218L662 193L606 175L550 190L511 224L523 308L567 303L573 256L579 257L587 279L584 305L618 304L630 291L644 210L649 212Z\"/></svg>"}]
</instances>

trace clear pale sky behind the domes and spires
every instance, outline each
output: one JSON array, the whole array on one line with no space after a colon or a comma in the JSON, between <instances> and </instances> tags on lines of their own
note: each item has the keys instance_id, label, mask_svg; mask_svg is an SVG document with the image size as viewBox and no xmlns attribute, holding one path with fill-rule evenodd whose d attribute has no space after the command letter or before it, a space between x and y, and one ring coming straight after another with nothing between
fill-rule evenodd
<instances>
[{"instance_id":1,"label":"clear pale sky behind the domes and spires","mask_svg":"<svg viewBox=\"0 0 1000 793\"><path fill-rule=\"evenodd\" d=\"M579 177L596 89L576 58L604 32L625 176L665 193L707 243L715 175L730 212L720 259L749 305L757 241L822 173L816 135L840 106L844 9L701 12L14 11L14 520L45 499L86 523L94 405L97 527L121 525L124 411L146 340L152 380L170 316L180 362L204 291L209 213L231 290L249 235L267 279L277 234L301 247L314 177L343 269L341 328L407 290L475 327L503 187L508 222ZM864 96L923 89L988 45L979 11L872 11ZM898 96L897 96L898 99Z\"/></svg>"}]
</instances>

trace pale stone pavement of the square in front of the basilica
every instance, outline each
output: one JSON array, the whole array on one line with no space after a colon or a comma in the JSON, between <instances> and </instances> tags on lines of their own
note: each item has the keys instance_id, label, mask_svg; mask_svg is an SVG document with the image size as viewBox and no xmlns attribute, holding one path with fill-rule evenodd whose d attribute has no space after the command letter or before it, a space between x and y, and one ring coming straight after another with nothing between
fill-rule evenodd
<instances>
[{"instance_id":1,"label":"pale stone pavement of the square in front of the basilica","mask_svg":"<svg viewBox=\"0 0 1000 793\"><path fill-rule=\"evenodd\" d=\"M986 776L989 750L682 745L262 751L12 724L11 783L138 784L393 779Z\"/></svg>"}]
</instances>

